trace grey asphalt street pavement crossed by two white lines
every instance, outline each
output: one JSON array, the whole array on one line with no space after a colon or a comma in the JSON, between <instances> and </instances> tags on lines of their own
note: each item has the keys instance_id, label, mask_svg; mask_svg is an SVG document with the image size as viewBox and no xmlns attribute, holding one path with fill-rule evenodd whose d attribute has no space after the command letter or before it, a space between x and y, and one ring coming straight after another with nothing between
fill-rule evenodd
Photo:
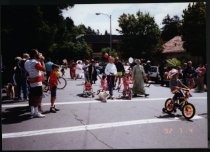
<instances>
[{"instance_id":1,"label":"grey asphalt street pavement crossed by two white lines","mask_svg":"<svg viewBox=\"0 0 210 152\"><path fill-rule=\"evenodd\" d=\"M196 114L187 121L177 111L162 113L172 97L167 87L151 84L149 97L120 99L106 103L95 97L81 97L84 80L71 80L57 91L57 113L50 113L50 94L45 93L45 118L30 118L27 102L2 101L2 150L85 150L85 149L171 149L207 148L207 93L195 93L189 102ZM99 80L93 84L94 92Z\"/></svg>"}]
</instances>

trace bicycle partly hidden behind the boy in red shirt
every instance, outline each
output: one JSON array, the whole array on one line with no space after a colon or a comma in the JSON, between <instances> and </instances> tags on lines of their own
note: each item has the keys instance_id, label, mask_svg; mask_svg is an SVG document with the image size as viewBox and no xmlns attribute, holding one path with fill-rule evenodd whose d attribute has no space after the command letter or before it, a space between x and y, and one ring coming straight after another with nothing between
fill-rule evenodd
<instances>
[{"instance_id":1,"label":"bicycle partly hidden behind the boy in red shirt","mask_svg":"<svg viewBox=\"0 0 210 152\"><path fill-rule=\"evenodd\" d=\"M64 77L58 77L58 85L57 85L57 89L64 89L67 85L67 81ZM50 89L50 85L49 85L49 79L47 81L44 81L42 83L43 86L43 91L47 92Z\"/></svg>"}]
</instances>

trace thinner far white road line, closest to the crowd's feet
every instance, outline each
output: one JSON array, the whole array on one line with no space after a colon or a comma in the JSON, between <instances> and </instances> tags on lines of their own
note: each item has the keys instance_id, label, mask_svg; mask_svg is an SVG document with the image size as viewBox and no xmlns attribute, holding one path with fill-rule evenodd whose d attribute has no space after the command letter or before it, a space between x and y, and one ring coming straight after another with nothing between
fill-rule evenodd
<instances>
[{"instance_id":1,"label":"thinner far white road line, closest to the crowd's feet","mask_svg":"<svg viewBox=\"0 0 210 152\"><path fill-rule=\"evenodd\" d=\"M162 101L165 101L167 98L144 98L144 99L140 99L140 98L136 98L136 99L132 99L132 100L123 100L123 99L115 99L115 100L108 100L108 102L131 102L131 101L156 101L156 100L162 100ZM207 100L207 97L192 97L190 98L190 100L197 100L197 99L200 99L200 100ZM84 101L69 101L69 102L57 102L56 105L69 105L69 104L87 104L87 103L101 103L100 101L98 100L92 100L92 101L87 101L87 100L84 100ZM49 106L50 103L42 103L43 106L47 105ZM28 106L28 103L27 104L5 104L5 105L2 105L2 108L13 108L13 107L25 107L25 106Z\"/></svg>"}]
</instances>

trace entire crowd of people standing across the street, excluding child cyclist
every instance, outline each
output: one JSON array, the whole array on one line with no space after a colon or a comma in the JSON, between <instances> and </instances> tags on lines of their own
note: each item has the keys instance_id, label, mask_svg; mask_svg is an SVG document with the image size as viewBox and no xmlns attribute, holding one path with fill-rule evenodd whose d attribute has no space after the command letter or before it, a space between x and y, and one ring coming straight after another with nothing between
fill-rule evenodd
<instances>
[{"instance_id":1,"label":"entire crowd of people standing across the street, excluding child cyclist","mask_svg":"<svg viewBox=\"0 0 210 152\"><path fill-rule=\"evenodd\" d=\"M192 61L188 61L183 65L182 68L177 66L165 71L163 65L160 64L161 85L163 84L164 75L167 75L168 79L170 79L171 72L176 70L177 78L184 85L190 89L196 88L197 92L206 91L207 66L200 64L197 68L194 68ZM125 66L129 66L129 68L125 69ZM84 79L85 83L90 82L91 85L95 84L99 79L102 90L109 92L110 99L114 99L114 89L119 90L121 86L124 86L124 90L128 89L128 82L133 83L133 97L137 97L138 95L147 97L149 94L145 91L145 82L149 79L150 66L151 62L149 60L142 62L138 58L133 63L124 63L119 57L114 58L109 56L102 66L99 66L99 63L94 59L78 60L77 62L74 60L67 62L64 59L61 66L61 73L64 75L64 69L69 68L70 79ZM12 79L12 85L15 88L15 99L29 101L32 117L45 117L42 114L41 102L43 95L42 82L46 80L49 80L51 91L50 112L56 113L59 111L55 107L58 85L57 78L60 76L59 68L60 66L53 63L51 59L45 59L37 49L32 49L29 53L24 53L22 57L15 58ZM102 76L99 74L102 74ZM23 98L21 97L21 91Z\"/></svg>"}]
</instances>

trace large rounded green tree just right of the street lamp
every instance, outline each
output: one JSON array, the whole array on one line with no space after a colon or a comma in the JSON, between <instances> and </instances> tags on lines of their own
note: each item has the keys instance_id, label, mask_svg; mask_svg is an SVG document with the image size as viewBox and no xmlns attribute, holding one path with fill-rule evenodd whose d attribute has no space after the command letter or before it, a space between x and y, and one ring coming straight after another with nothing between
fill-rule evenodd
<instances>
[{"instance_id":1,"label":"large rounded green tree just right of the street lamp","mask_svg":"<svg viewBox=\"0 0 210 152\"><path fill-rule=\"evenodd\" d=\"M123 14L118 19L123 34L123 56L151 56L160 40L160 30L154 17L138 11L136 15Z\"/></svg>"}]
</instances>

